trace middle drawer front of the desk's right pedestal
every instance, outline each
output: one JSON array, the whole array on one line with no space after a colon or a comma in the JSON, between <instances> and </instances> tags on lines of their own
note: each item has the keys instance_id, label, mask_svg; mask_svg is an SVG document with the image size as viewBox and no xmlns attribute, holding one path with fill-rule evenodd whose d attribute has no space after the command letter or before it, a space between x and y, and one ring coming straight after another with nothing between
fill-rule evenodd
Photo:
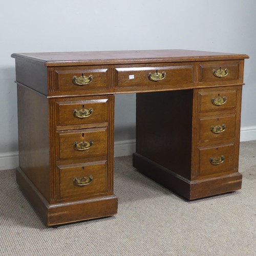
<instances>
[{"instance_id":1,"label":"middle drawer front of the desk's right pedestal","mask_svg":"<svg viewBox=\"0 0 256 256\"><path fill-rule=\"evenodd\" d=\"M236 114L200 117L199 128L199 142L234 138L236 131Z\"/></svg>"}]
</instances>

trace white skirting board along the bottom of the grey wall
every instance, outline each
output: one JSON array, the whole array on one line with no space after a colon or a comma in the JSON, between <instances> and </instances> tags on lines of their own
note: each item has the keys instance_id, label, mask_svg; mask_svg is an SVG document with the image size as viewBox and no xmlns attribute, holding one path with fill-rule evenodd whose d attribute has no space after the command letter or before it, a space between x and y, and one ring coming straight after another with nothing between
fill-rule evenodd
<instances>
[{"instance_id":1,"label":"white skirting board along the bottom of the grey wall","mask_svg":"<svg viewBox=\"0 0 256 256\"><path fill-rule=\"evenodd\" d=\"M241 127L240 141L256 140L256 126ZM136 140L115 142L115 157L130 156L136 150ZM18 152L0 153L0 170L13 169L18 166Z\"/></svg>"}]
</instances>

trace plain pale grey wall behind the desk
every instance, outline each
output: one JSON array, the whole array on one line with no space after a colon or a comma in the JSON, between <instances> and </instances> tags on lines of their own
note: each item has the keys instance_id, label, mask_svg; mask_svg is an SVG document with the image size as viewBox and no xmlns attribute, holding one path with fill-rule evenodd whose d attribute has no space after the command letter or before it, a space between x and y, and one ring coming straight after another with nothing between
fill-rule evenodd
<instances>
[{"instance_id":1,"label":"plain pale grey wall behind the desk","mask_svg":"<svg viewBox=\"0 0 256 256\"><path fill-rule=\"evenodd\" d=\"M191 49L248 54L241 124L256 134L255 11L254 0L2 1L0 157L18 150L14 52ZM134 138L135 95L117 95L115 140Z\"/></svg>"}]
</instances>

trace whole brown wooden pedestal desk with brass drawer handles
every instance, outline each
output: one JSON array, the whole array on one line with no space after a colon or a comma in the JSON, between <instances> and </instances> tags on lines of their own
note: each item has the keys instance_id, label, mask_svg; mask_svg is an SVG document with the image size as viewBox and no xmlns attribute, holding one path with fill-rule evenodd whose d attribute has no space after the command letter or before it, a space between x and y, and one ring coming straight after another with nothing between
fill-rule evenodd
<instances>
[{"instance_id":1,"label":"whole brown wooden pedestal desk with brass drawer handles","mask_svg":"<svg viewBox=\"0 0 256 256\"><path fill-rule=\"evenodd\" d=\"M120 93L137 93L133 165L141 173L189 200L241 188L247 55L156 50L12 57L17 183L47 225L117 213L114 95Z\"/></svg>"}]
</instances>

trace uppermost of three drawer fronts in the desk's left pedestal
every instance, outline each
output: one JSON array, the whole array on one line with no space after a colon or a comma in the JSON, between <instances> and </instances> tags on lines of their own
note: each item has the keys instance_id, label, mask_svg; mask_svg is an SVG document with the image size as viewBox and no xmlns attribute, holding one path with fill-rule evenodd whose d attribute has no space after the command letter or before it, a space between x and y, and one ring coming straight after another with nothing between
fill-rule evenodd
<instances>
[{"instance_id":1,"label":"uppermost of three drawer fronts in the desk's left pedestal","mask_svg":"<svg viewBox=\"0 0 256 256\"><path fill-rule=\"evenodd\" d=\"M108 122L108 99L59 101L57 125Z\"/></svg>"}]
</instances>

